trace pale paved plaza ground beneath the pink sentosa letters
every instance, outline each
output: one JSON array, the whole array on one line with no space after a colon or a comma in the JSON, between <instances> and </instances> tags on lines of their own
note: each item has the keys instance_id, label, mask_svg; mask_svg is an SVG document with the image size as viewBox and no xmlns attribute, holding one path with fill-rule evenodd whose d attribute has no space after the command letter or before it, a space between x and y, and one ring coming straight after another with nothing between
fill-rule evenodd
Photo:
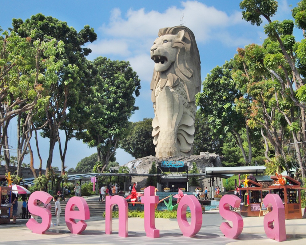
<instances>
[{"instance_id":1,"label":"pale paved plaza ground beneath the pink sentosa letters","mask_svg":"<svg viewBox=\"0 0 306 245\"><path fill-rule=\"evenodd\" d=\"M214 211L210 211L214 212ZM54 217L53 217L54 219ZM203 224L200 232L193 238L184 237L178 227L176 219L156 218L155 225L160 229L160 238L147 238L144 231L144 219L129 218L129 236L118 236L118 219L113 219L113 234L105 234L105 219L99 217L90 218L82 235L71 234L66 227L64 214L62 213L61 225L50 227L46 234L32 233L26 227L24 219L17 219L17 224L0 225L0 244L276 244L275 240L267 239L264 233L263 217L244 217L244 229L239 239L226 238L219 226L225 220L218 213L203 214ZM190 219L189 219L190 221ZM306 219L286 220L287 241L281 244L305 244L306 243Z\"/></svg>"}]
</instances>

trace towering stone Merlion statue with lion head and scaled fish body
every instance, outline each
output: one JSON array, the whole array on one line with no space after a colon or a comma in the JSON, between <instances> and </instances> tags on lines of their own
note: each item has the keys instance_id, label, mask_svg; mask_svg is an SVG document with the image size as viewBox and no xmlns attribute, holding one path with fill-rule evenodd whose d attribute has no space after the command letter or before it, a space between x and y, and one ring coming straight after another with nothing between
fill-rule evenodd
<instances>
[{"instance_id":1,"label":"towering stone Merlion statue with lion head and scaled fish body","mask_svg":"<svg viewBox=\"0 0 306 245\"><path fill-rule=\"evenodd\" d=\"M190 156L195 95L201 89L200 55L193 32L184 26L162 28L151 47L152 121L156 157Z\"/></svg>"}]
</instances>

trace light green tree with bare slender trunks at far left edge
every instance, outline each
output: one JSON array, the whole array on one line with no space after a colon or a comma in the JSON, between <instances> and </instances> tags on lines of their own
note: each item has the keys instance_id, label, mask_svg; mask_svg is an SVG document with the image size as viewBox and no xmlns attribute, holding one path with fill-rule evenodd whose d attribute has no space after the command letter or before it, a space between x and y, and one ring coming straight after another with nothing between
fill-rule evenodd
<instances>
[{"instance_id":1,"label":"light green tree with bare slender trunks at far left edge","mask_svg":"<svg viewBox=\"0 0 306 245\"><path fill-rule=\"evenodd\" d=\"M17 175L31 138L32 118L39 109L45 108L49 96L44 90L55 82L55 73L62 66L55 56L64 51L62 41L54 38L33 41L32 35L30 32L26 37L19 37L14 31L4 31L0 37L1 146L7 148L7 126L18 115ZM4 157L8 162L9 151L5 151Z\"/></svg>"}]
</instances>

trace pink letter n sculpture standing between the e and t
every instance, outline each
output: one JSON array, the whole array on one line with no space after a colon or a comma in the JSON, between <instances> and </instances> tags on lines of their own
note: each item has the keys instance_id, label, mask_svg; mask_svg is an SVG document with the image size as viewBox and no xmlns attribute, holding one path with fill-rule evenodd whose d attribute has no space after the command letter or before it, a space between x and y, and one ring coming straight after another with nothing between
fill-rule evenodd
<instances>
[{"instance_id":1,"label":"pink letter n sculpture standing between the e and t","mask_svg":"<svg viewBox=\"0 0 306 245\"><path fill-rule=\"evenodd\" d=\"M113 233L113 206L119 207L119 236L128 236L128 203L121 196L105 197L105 233Z\"/></svg>"}]
</instances>

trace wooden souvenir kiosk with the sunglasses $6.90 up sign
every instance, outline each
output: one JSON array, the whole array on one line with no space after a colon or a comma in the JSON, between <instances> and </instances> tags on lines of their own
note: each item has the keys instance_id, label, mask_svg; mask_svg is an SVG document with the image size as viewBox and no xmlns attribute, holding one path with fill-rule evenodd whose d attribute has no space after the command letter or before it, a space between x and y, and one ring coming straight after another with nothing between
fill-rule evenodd
<instances>
[{"instance_id":1,"label":"wooden souvenir kiosk with the sunglasses $6.90 up sign","mask_svg":"<svg viewBox=\"0 0 306 245\"><path fill-rule=\"evenodd\" d=\"M240 214L242 216L263 216L260 213L262 202L262 185L248 179L248 187L240 187L241 194Z\"/></svg>"}]
</instances>

